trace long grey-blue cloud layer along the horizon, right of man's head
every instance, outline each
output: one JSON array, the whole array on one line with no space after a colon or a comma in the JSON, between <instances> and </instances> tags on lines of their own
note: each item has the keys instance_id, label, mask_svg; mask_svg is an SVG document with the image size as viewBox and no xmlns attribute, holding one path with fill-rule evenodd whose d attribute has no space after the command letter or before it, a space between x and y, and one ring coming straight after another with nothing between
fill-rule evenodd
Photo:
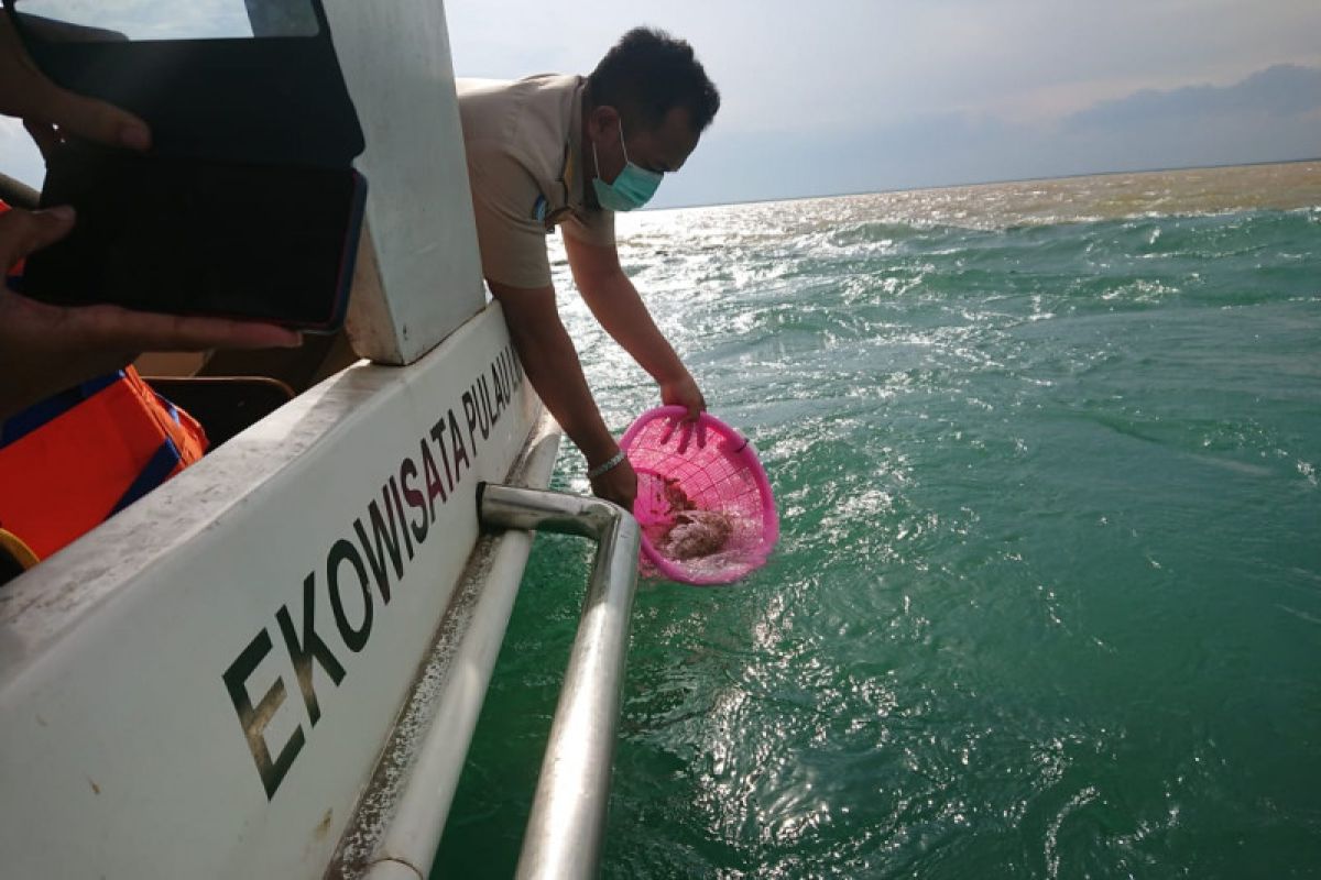
<instances>
[{"instance_id":1,"label":"long grey-blue cloud layer along the horizon, right of man's head","mask_svg":"<svg viewBox=\"0 0 1321 880\"><path fill-rule=\"evenodd\" d=\"M658 207L1321 156L1321 69L1137 91L1041 123L929 113L864 129L709 136Z\"/></svg>"}]
</instances>

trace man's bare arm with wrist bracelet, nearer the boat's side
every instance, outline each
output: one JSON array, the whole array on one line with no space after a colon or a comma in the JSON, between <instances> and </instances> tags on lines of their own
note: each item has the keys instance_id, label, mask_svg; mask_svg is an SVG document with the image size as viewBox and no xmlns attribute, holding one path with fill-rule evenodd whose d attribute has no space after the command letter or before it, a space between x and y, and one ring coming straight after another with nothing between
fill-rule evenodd
<instances>
[{"instance_id":1,"label":"man's bare arm with wrist bracelet, nearer the boat's side","mask_svg":"<svg viewBox=\"0 0 1321 880\"><path fill-rule=\"evenodd\" d=\"M609 462L620 451L583 375L577 350L555 307L555 289L511 288L486 280L505 307L505 323L532 388L551 414L583 451L588 467ZM592 491L633 509L638 479L625 460L592 480Z\"/></svg>"}]
</instances>

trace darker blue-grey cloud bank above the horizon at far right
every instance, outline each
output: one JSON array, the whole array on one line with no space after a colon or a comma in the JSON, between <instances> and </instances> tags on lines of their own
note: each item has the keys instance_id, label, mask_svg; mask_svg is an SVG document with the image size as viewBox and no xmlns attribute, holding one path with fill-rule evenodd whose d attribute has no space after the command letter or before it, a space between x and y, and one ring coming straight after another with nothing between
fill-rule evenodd
<instances>
[{"instance_id":1,"label":"darker blue-grey cloud bank above the horizon at far right","mask_svg":"<svg viewBox=\"0 0 1321 880\"><path fill-rule=\"evenodd\" d=\"M1321 110L1321 69L1276 65L1232 86L1143 90L1119 100L1099 102L1065 119L1065 127L1085 131L1211 116L1297 116L1317 110Z\"/></svg>"}]
</instances>

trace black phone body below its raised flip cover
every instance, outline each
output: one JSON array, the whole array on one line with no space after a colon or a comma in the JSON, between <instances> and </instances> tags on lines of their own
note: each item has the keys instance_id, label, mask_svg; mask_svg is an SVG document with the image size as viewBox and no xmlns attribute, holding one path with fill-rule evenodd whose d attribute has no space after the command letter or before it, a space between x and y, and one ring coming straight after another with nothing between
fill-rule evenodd
<instances>
[{"instance_id":1,"label":"black phone body below its raised flip cover","mask_svg":"<svg viewBox=\"0 0 1321 880\"><path fill-rule=\"evenodd\" d=\"M41 203L73 204L78 222L28 257L22 293L329 332L343 322L365 198L351 169L63 144Z\"/></svg>"}]
</instances>

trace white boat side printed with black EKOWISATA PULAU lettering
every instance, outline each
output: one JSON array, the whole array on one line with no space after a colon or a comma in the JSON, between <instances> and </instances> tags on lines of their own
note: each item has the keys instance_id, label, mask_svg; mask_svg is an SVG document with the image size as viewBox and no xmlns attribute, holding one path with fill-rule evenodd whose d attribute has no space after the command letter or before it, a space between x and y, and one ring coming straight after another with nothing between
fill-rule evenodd
<instances>
[{"instance_id":1,"label":"white boat side printed with black EKOWISATA PULAU lettering","mask_svg":"<svg viewBox=\"0 0 1321 880\"><path fill-rule=\"evenodd\" d=\"M320 876L477 536L477 482L505 478L532 425L522 383L487 438L466 435L464 393L493 381L507 346L493 306L412 367L350 368L0 591L4 876ZM369 503L404 459L421 470L420 443L450 412L472 467L412 558L400 551L390 603L371 586L355 653L326 554L358 544L355 520L370 530ZM361 628L357 577L341 571ZM287 607L303 632L309 574L314 629L345 669L334 686L313 664L314 726L276 623ZM222 679L262 632L272 648L244 691L254 705L277 679L285 691L263 740L273 756L305 738L271 800Z\"/></svg>"}]
</instances>

